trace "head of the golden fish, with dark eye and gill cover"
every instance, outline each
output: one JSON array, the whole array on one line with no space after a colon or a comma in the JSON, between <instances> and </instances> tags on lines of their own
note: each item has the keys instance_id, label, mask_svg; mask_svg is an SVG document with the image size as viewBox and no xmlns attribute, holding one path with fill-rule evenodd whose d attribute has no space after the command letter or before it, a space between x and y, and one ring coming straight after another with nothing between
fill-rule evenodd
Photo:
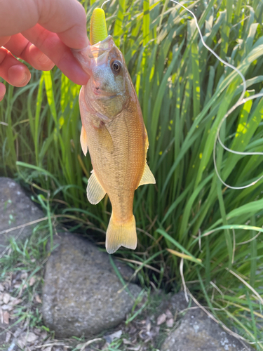
<instances>
[{"instance_id":1,"label":"head of the golden fish, with dark eye and gill cover","mask_svg":"<svg viewBox=\"0 0 263 351\"><path fill-rule=\"evenodd\" d=\"M114 119L126 106L129 91L126 84L128 69L112 36L82 51L75 51L74 55L90 75L84 86L86 103L104 121Z\"/></svg>"}]
</instances>

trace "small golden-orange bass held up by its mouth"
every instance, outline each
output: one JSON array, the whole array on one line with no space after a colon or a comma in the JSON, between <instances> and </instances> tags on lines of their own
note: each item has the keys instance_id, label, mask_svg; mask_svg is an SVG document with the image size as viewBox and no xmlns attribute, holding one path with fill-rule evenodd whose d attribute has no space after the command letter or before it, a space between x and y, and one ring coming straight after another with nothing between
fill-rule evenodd
<instances>
[{"instance_id":1,"label":"small golden-orange bass held up by its mouth","mask_svg":"<svg viewBox=\"0 0 263 351\"><path fill-rule=\"evenodd\" d=\"M107 252L136 249L134 193L140 185L156 183L147 165L149 142L140 103L112 36L74 55L90 76L79 93L81 148L93 165L88 201L98 204L105 194L111 201Z\"/></svg>"}]
</instances>

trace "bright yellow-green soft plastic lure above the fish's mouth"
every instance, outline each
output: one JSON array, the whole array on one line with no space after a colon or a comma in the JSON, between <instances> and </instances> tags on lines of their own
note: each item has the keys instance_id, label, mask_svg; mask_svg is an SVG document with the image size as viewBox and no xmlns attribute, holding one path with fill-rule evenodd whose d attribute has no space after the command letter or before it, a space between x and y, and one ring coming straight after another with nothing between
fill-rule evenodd
<instances>
[{"instance_id":1,"label":"bright yellow-green soft plastic lure above the fish's mouth","mask_svg":"<svg viewBox=\"0 0 263 351\"><path fill-rule=\"evenodd\" d=\"M105 13L102 8L95 8L90 21L90 44L97 44L108 37Z\"/></svg>"}]
</instances>

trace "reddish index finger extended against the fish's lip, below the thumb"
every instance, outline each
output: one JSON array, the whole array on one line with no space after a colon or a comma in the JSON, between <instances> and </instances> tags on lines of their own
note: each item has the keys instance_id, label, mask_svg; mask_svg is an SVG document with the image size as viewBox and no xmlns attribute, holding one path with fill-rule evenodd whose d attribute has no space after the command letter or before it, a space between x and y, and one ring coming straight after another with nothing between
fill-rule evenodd
<instances>
[{"instance_id":1,"label":"reddish index finger extended against the fish's lip, below the thumb","mask_svg":"<svg viewBox=\"0 0 263 351\"><path fill-rule=\"evenodd\" d=\"M87 83L88 74L83 71L70 48L62 43L57 34L48 32L41 25L35 25L23 32L22 35L45 53L74 83L80 85Z\"/></svg>"}]
</instances>

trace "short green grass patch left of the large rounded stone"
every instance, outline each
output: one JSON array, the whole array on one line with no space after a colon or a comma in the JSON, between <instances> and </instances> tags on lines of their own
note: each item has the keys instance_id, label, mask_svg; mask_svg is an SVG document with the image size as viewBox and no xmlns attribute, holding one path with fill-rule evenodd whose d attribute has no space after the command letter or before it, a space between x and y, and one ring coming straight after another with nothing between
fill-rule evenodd
<instances>
[{"instance_id":1,"label":"short green grass patch left of the large rounded stone","mask_svg":"<svg viewBox=\"0 0 263 351\"><path fill-rule=\"evenodd\" d=\"M40 330L48 330L43 326L41 305L34 300L36 295L41 296L44 264L49 255L46 244L50 239L50 230L46 222L36 225L32 236L23 243L18 243L12 238L8 252L0 256L0 282L11 281L15 279L16 274L22 273L24 276L18 280L20 286L15 286L11 292L13 297L20 298L21 301L11 311L12 319L9 325L5 325L6 330L13 326L15 328L18 326L20 329L36 327ZM5 333L5 329L2 328L0 333ZM0 350L2 350L1 346ZM3 350L6 348L4 347Z\"/></svg>"}]
</instances>

